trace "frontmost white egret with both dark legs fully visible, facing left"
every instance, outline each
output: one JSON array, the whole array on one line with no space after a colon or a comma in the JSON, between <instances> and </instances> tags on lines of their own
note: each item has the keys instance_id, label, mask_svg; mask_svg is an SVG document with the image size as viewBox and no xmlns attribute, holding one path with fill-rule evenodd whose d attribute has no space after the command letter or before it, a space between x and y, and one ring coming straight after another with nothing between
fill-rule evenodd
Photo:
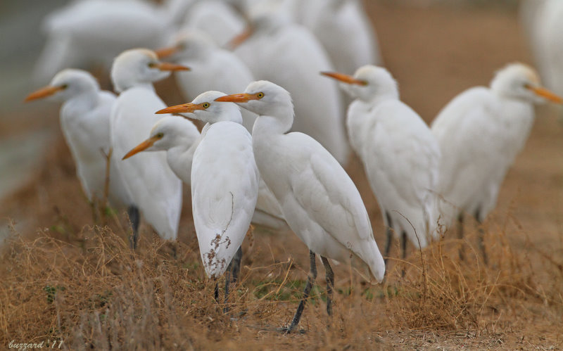
<instances>
[{"instance_id":1,"label":"frontmost white egret with both dark legs fully visible, facing left","mask_svg":"<svg viewBox=\"0 0 563 351\"><path fill-rule=\"evenodd\" d=\"M385 263L374 240L362 198L338 161L310 136L287 133L293 123L293 103L284 88L272 82L252 82L244 94L223 96L258 115L252 131L256 165L272 190L286 222L310 250L310 274L291 321L301 319L305 300L317 276L315 253L324 264L327 312L331 314L334 274L328 258L350 262L370 280L384 278ZM286 134L287 133L287 134Z\"/></svg>"}]
</instances>

